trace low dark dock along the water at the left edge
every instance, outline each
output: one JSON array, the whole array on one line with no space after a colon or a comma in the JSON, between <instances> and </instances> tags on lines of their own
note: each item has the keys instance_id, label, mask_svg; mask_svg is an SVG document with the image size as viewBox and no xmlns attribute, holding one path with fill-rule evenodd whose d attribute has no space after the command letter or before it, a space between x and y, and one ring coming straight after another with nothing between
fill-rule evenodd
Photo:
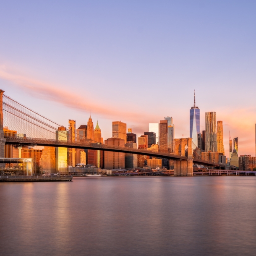
<instances>
[{"instance_id":1,"label":"low dark dock along the water at the left edge","mask_svg":"<svg viewBox=\"0 0 256 256\"><path fill-rule=\"evenodd\" d=\"M72 181L72 175L0 176L0 182Z\"/></svg>"}]
</instances>

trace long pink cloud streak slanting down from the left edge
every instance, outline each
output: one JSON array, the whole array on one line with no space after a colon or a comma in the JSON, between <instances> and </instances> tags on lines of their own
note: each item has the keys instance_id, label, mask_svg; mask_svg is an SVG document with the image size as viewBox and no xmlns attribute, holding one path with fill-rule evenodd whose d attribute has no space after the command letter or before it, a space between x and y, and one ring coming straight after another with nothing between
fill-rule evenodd
<instances>
[{"instance_id":1,"label":"long pink cloud streak slanting down from the left edge","mask_svg":"<svg viewBox=\"0 0 256 256\"><path fill-rule=\"evenodd\" d=\"M34 97L57 102L68 108L87 112L92 110L94 113L111 120L120 120L123 117L125 120L135 123L147 120L146 113L122 110L121 107L124 105L122 100L115 102L115 106L106 105L106 102L100 104L100 100L81 97L81 94L66 90L61 85L49 84L26 76L20 76L13 72L7 72L3 67L0 68L0 78L10 81L14 86L25 89L27 93L32 94ZM130 108L129 106L129 110ZM150 118L156 117L150 116Z\"/></svg>"}]
</instances>

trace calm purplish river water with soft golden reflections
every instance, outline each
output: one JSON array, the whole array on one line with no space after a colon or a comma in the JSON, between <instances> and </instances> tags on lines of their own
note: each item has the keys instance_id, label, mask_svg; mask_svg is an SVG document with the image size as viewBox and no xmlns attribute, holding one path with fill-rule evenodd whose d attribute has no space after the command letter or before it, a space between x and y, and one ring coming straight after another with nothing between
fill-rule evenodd
<instances>
[{"instance_id":1,"label":"calm purplish river water with soft golden reflections","mask_svg":"<svg viewBox=\"0 0 256 256\"><path fill-rule=\"evenodd\" d=\"M256 178L0 183L0 255L256 255Z\"/></svg>"}]
</instances>

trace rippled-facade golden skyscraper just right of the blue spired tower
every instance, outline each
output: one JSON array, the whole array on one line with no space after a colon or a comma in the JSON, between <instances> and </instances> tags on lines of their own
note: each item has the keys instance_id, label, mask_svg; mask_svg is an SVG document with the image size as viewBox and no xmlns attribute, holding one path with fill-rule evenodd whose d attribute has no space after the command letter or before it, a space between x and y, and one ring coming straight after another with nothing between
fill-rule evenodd
<instances>
[{"instance_id":1,"label":"rippled-facade golden skyscraper just right of the blue spired tower","mask_svg":"<svg viewBox=\"0 0 256 256\"><path fill-rule=\"evenodd\" d=\"M217 152L216 112L205 113L205 152Z\"/></svg>"}]
</instances>

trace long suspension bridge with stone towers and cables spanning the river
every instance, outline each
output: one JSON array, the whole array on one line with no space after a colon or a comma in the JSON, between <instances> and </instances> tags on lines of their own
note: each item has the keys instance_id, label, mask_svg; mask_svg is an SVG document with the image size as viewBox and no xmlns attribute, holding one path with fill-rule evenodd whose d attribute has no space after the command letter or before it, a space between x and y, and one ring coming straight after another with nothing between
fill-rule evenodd
<instances>
[{"instance_id":1,"label":"long suspension bridge with stone towers and cables spanning the river","mask_svg":"<svg viewBox=\"0 0 256 256\"><path fill-rule=\"evenodd\" d=\"M18 133L26 134L26 136L5 136L3 132L4 126L8 126ZM4 94L3 90L0 90L0 158L5 156L5 144L30 147L54 146L122 152L172 159L174 160L175 176L193 176L193 163L225 169L225 165L223 164L202 160L200 155L197 154L197 151L192 149L192 138L176 138L173 143L174 152L172 153L154 152L146 149L110 146L92 140L78 141L76 138L67 140L61 139L61 136L56 139L56 131L59 127L64 126L11 99Z\"/></svg>"}]
</instances>

